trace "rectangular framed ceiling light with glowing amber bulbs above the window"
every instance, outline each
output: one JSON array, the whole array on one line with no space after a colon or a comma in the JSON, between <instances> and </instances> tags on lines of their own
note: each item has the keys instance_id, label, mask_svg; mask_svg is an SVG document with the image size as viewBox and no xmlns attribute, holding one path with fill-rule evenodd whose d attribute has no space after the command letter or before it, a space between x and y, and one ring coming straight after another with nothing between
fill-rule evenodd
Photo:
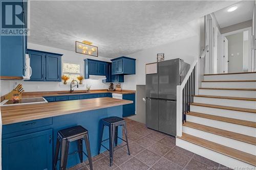
<instances>
[{"instance_id":1,"label":"rectangular framed ceiling light with glowing amber bulbs above the window","mask_svg":"<svg viewBox=\"0 0 256 170\"><path fill-rule=\"evenodd\" d=\"M76 41L76 53L98 57L98 47L90 41Z\"/></svg>"}]
</instances>

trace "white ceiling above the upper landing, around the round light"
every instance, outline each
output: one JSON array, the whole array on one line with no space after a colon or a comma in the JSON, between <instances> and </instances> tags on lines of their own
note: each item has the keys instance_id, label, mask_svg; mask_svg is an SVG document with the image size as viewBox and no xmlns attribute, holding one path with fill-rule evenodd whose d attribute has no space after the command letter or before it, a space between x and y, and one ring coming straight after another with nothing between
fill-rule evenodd
<instances>
[{"instance_id":1,"label":"white ceiling above the upper landing, around the round light","mask_svg":"<svg viewBox=\"0 0 256 170\"><path fill-rule=\"evenodd\" d=\"M238 6L238 9L235 11L227 12L230 7L228 6L214 13L220 28L252 19L254 1L241 1L234 5Z\"/></svg>"}]
</instances>

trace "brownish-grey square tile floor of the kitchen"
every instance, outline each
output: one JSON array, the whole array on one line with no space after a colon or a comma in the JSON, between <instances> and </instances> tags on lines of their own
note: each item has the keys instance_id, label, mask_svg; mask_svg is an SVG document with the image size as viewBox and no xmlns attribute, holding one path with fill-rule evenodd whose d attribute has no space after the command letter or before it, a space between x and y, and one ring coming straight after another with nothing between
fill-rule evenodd
<instances>
[{"instance_id":1,"label":"brownish-grey square tile floor of the kitchen","mask_svg":"<svg viewBox=\"0 0 256 170\"><path fill-rule=\"evenodd\" d=\"M109 152L93 157L94 170L200 170L228 169L207 158L175 145L175 137L148 129L144 124L125 118L131 155L127 155L125 142L115 148L114 163L109 166ZM89 170L88 162L69 170Z\"/></svg>"}]
</instances>

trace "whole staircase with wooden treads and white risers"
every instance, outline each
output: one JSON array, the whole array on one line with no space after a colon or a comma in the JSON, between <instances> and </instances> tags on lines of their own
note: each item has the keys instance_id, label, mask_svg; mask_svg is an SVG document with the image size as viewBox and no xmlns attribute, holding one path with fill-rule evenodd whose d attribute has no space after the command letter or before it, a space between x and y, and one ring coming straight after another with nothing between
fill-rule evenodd
<instances>
[{"instance_id":1,"label":"whole staircase with wooden treads and white risers","mask_svg":"<svg viewBox=\"0 0 256 170\"><path fill-rule=\"evenodd\" d=\"M204 75L176 144L231 168L256 166L256 72Z\"/></svg>"}]
</instances>

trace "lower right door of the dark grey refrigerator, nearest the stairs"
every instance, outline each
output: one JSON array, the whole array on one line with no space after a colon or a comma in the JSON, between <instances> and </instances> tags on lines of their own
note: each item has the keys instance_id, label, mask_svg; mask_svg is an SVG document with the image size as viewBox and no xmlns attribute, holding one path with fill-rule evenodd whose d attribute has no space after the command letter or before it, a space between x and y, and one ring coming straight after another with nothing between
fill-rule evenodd
<instances>
[{"instance_id":1,"label":"lower right door of the dark grey refrigerator, nearest the stairs","mask_svg":"<svg viewBox=\"0 0 256 170\"><path fill-rule=\"evenodd\" d=\"M176 136L176 102L159 100L159 131Z\"/></svg>"}]
</instances>

